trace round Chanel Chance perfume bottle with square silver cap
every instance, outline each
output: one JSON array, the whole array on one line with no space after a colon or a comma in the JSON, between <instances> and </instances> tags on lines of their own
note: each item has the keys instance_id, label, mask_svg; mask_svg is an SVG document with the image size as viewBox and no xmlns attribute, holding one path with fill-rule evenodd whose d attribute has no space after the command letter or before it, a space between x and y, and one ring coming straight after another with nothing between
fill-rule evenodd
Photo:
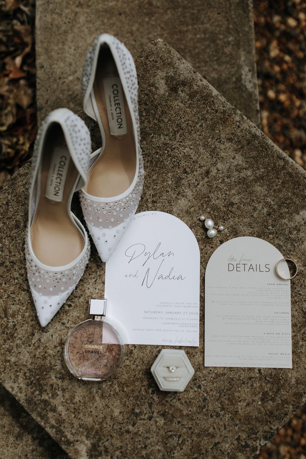
<instances>
[{"instance_id":1,"label":"round Chanel Chance perfume bottle with square silver cap","mask_svg":"<svg viewBox=\"0 0 306 459\"><path fill-rule=\"evenodd\" d=\"M78 379L104 381L120 366L124 343L120 333L105 319L106 299L89 300L90 319L74 327L64 348L67 368Z\"/></svg>"}]
</instances>

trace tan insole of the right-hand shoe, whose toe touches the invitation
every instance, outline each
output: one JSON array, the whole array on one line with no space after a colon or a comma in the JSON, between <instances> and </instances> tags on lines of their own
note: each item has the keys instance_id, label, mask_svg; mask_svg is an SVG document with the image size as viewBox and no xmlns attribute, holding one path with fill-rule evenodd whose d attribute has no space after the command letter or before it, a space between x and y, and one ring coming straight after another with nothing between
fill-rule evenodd
<instances>
[{"instance_id":1,"label":"tan insole of the right-hand shoe, whose toe touches the invitation","mask_svg":"<svg viewBox=\"0 0 306 459\"><path fill-rule=\"evenodd\" d=\"M128 102L109 49L102 48L100 51L94 97L105 130L106 144L103 155L89 172L85 191L99 197L118 196L132 185L136 173L136 152ZM126 134L120 134L120 128Z\"/></svg>"}]
</instances>

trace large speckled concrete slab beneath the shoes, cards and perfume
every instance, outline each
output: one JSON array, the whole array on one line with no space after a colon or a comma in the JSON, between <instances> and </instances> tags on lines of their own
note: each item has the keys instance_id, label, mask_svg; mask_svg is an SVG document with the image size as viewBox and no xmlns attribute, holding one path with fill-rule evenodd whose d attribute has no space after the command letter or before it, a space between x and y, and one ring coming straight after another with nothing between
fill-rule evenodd
<instances>
[{"instance_id":1,"label":"large speckled concrete slab beneath the shoes, cards and perfume","mask_svg":"<svg viewBox=\"0 0 306 459\"><path fill-rule=\"evenodd\" d=\"M72 458L252 457L306 399L306 173L164 42L148 45L136 67L146 170L139 211L176 215L200 245L200 347L185 348L195 375L185 392L162 393L150 374L161 347L130 345L111 380L72 377L63 345L86 318L88 298L103 294L104 266L93 249L77 289L51 324L39 327L22 249L26 165L0 195L0 381ZM97 129L92 121L89 127L95 148ZM207 239L201 213L227 231ZM299 265L292 370L204 368L206 263L223 241L242 235L272 242Z\"/></svg>"}]
</instances>

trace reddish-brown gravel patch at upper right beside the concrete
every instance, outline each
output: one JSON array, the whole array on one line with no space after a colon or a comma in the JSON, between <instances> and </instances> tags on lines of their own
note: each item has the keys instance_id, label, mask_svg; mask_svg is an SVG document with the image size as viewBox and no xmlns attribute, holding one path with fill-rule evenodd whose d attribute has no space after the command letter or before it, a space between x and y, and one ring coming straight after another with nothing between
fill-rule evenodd
<instances>
[{"instance_id":1,"label":"reddish-brown gravel patch at upper right beside the concrete","mask_svg":"<svg viewBox=\"0 0 306 459\"><path fill-rule=\"evenodd\" d=\"M306 1L254 0L264 133L306 168Z\"/></svg>"}]
</instances>

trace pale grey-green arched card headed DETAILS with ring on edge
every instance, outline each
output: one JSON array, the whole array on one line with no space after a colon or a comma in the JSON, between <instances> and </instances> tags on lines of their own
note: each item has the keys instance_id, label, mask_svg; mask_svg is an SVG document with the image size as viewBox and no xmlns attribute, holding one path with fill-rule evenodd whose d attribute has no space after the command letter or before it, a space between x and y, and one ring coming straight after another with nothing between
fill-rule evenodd
<instances>
[{"instance_id":1,"label":"pale grey-green arched card headed DETAILS with ring on edge","mask_svg":"<svg viewBox=\"0 0 306 459\"><path fill-rule=\"evenodd\" d=\"M238 237L211 255L205 274L205 366L292 368L290 280L269 242ZM289 277L287 263L278 272Z\"/></svg>"}]
</instances>

